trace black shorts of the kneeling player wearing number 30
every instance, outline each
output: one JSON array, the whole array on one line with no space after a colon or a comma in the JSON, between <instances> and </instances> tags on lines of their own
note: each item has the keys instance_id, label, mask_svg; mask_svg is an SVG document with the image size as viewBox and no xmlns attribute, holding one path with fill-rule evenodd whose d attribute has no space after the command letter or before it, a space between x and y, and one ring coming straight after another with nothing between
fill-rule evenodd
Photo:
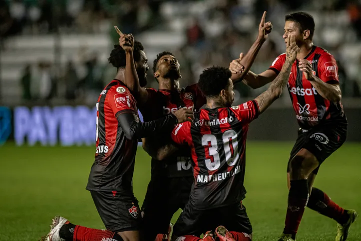
<instances>
[{"instance_id":1,"label":"black shorts of the kneeling player wearing number 30","mask_svg":"<svg viewBox=\"0 0 361 241\"><path fill-rule=\"evenodd\" d=\"M229 231L252 233L246 207L240 202L207 210L198 210L187 204L174 225L173 235L199 237L206 231L215 230L219 225L225 226Z\"/></svg>"}]
</instances>

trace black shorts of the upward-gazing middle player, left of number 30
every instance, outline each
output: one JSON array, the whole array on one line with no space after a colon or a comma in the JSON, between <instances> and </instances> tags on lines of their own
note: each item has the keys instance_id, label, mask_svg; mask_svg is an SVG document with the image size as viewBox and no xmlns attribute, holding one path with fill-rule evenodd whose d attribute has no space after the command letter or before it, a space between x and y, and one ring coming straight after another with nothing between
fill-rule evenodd
<instances>
[{"instance_id":1,"label":"black shorts of the upward-gazing middle player, left of number 30","mask_svg":"<svg viewBox=\"0 0 361 241\"><path fill-rule=\"evenodd\" d=\"M158 233L167 233L173 214L189 200L194 178L152 175L142 205L142 229L145 240L154 241Z\"/></svg>"}]
</instances>

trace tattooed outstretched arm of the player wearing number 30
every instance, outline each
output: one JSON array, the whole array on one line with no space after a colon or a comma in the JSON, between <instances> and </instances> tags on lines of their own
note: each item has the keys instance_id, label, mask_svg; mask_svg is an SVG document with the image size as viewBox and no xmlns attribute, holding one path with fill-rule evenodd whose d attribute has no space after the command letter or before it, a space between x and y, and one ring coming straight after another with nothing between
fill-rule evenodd
<instances>
[{"instance_id":1,"label":"tattooed outstretched arm of the player wearing number 30","mask_svg":"<svg viewBox=\"0 0 361 241\"><path fill-rule=\"evenodd\" d=\"M265 111L276 99L278 99L283 89L286 87L288 79L290 77L290 72L292 64L296 60L297 52L300 48L296 45L294 41L290 41L290 35L288 39L288 45L286 49L286 61L283 64L281 72L271 83L270 87L263 93L261 93L255 100L258 103L260 108L260 113Z\"/></svg>"}]
</instances>

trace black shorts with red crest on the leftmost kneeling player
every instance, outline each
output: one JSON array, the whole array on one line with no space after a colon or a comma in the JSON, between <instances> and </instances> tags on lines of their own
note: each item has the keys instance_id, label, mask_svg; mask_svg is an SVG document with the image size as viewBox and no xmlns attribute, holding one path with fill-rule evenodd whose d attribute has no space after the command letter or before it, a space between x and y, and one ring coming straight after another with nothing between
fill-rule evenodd
<instances>
[{"instance_id":1,"label":"black shorts with red crest on the leftmost kneeling player","mask_svg":"<svg viewBox=\"0 0 361 241\"><path fill-rule=\"evenodd\" d=\"M106 229L113 232L140 230L138 200L131 191L90 191Z\"/></svg>"}]
</instances>

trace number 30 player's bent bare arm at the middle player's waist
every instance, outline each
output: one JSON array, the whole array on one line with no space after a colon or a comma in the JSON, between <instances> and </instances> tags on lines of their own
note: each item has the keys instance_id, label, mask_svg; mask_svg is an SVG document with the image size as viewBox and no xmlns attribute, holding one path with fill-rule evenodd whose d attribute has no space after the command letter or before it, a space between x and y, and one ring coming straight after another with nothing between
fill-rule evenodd
<instances>
[{"instance_id":1,"label":"number 30 player's bent bare arm at the middle player's waist","mask_svg":"<svg viewBox=\"0 0 361 241\"><path fill-rule=\"evenodd\" d=\"M153 158L157 160L164 160L178 150L178 147L173 143L168 143L163 146L158 146L153 137L142 138L143 149Z\"/></svg>"}]
</instances>

